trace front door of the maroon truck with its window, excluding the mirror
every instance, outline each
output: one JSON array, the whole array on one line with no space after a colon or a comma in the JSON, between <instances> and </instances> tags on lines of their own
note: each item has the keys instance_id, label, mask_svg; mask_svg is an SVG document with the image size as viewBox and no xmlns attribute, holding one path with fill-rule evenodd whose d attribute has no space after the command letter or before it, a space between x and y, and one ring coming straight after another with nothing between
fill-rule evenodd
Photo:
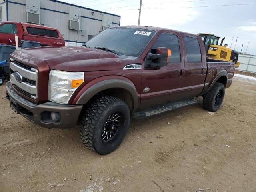
<instances>
[{"instance_id":1,"label":"front door of the maroon truck with its window, excluding the mirror","mask_svg":"<svg viewBox=\"0 0 256 192\"><path fill-rule=\"evenodd\" d=\"M167 66L160 68L142 67L142 88L140 108L149 108L164 102L179 99L182 88L184 61L179 43L180 34L162 33L148 53L156 54L157 47L168 49ZM145 58L145 62L154 62ZM142 63L142 66L144 66Z\"/></svg>"}]
</instances>

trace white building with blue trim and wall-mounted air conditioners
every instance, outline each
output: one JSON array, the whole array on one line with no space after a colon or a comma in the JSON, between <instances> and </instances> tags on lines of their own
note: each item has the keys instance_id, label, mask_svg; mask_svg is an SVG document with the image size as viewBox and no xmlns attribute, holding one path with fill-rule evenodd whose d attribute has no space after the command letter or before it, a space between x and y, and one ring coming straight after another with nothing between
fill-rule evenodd
<instances>
[{"instance_id":1,"label":"white building with blue trim and wall-mounted air conditioners","mask_svg":"<svg viewBox=\"0 0 256 192\"><path fill-rule=\"evenodd\" d=\"M0 22L28 22L58 28L65 41L83 43L120 25L120 16L57 0L0 0Z\"/></svg>"}]
</instances>

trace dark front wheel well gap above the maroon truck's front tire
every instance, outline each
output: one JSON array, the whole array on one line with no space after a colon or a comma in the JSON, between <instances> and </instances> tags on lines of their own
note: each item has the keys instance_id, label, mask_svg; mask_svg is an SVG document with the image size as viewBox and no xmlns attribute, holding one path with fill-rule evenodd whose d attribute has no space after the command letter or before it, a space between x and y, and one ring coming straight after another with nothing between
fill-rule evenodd
<instances>
[{"instance_id":1,"label":"dark front wheel well gap above the maroon truck's front tire","mask_svg":"<svg viewBox=\"0 0 256 192\"><path fill-rule=\"evenodd\" d=\"M126 102L126 104L128 105L130 111L132 111L133 109L133 99L132 99L132 95L130 94L129 91L123 89L123 88L110 88L110 89L106 89L103 90L99 93L97 93L95 96L93 96L90 101L102 97L102 96L114 96L117 97L121 100L123 100L124 102ZM89 101L89 102L90 102Z\"/></svg>"}]
</instances>

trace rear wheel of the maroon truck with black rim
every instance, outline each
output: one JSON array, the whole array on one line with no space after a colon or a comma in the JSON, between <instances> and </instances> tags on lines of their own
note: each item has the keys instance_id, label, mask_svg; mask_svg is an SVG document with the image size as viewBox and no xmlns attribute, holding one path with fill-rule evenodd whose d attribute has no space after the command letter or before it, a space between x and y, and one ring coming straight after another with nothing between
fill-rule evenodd
<instances>
[{"instance_id":1,"label":"rear wheel of the maroon truck with black rim","mask_svg":"<svg viewBox=\"0 0 256 192\"><path fill-rule=\"evenodd\" d=\"M214 86L204 95L203 106L206 110L217 111L224 99L225 87L222 83L215 83Z\"/></svg>"}]
</instances>

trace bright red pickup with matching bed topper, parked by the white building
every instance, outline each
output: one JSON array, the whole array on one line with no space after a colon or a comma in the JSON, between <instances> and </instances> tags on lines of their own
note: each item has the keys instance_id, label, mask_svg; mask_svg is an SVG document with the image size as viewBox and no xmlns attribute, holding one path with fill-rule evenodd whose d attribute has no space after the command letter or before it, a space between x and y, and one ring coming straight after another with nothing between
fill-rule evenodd
<instances>
[{"instance_id":1,"label":"bright red pickup with matching bed topper, parked by the white building","mask_svg":"<svg viewBox=\"0 0 256 192\"><path fill-rule=\"evenodd\" d=\"M0 24L0 44L15 45L15 33L18 44L21 40L30 40L40 42L41 46L65 46L65 40L56 28L10 21Z\"/></svg>"}]
</instances>

